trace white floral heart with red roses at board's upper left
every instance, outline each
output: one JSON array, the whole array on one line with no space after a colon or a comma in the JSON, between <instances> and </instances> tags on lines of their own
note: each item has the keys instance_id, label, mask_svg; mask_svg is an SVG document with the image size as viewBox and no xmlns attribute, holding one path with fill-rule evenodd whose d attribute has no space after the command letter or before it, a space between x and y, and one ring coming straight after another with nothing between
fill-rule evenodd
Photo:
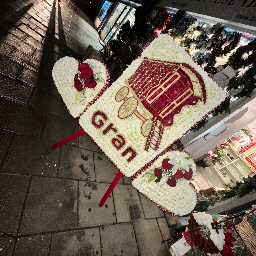
<instances>
[{"instance_id":1,"label":"white floral heart with red roses at board's upper left","mask_svg":"<svg viewBox=\"0 0 256 256\"><path fill-rule=\"evenodd\" d=\"M99 60L79 63L71 57L58 60L52 77L70 114L79 117L108 88L109 72Z\"/></svg>"}]
</instances>

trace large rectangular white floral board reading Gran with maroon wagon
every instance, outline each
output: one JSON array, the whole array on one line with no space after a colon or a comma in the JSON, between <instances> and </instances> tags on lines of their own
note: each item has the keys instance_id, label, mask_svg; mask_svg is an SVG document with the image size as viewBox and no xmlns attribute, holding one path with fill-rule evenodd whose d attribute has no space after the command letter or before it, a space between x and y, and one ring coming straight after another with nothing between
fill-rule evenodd
<instances>
[{"instance_id":1,"label":"large rectangular white floral board reading Gran with maroon wagon","mask_svg":"<svg viewBox=\"0 0 256 256\"><path fill-rule=\"evenodd\" d=\"M184 49L160 34L87 109L79 124L130 177L147 169L224 99L225 92Z\"/></svg>"}]
</instances>

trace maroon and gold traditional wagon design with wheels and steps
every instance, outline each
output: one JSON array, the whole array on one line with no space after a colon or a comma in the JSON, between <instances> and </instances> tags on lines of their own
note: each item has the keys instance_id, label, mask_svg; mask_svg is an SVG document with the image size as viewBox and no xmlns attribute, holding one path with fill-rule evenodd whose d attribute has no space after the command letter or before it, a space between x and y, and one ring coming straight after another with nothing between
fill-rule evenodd
<instances>
[{"instance_id":1,"label":"maroon and gold traditional wagon design with wheels and steps","mask_svg":"<svg viewBox=\"0 0 256 256\"><path fill-rule=\"evenodd\" d=\"M139 68L116 93L116 101L123 101L118 117L132 114L141 121L141 134L148 137L145 150L157 150L164 127L173 124L174 115L185 106L205 103L206 91L202 76L185 63L144 58ZM132 97L128 97L129 92ZM138 112L138 104L143 112Z\"/></svg>"}]
</instances>

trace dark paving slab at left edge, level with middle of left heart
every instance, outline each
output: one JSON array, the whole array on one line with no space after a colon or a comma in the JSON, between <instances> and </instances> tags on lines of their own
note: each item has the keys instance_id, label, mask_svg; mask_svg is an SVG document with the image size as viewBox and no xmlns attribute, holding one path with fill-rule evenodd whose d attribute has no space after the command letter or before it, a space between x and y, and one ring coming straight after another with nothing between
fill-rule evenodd
<instances>
[{"instance_id":1,"label":"dark paving slab at left edge, level with middle of left heart","mask_svg":"<svg viewBox=\"0 0 256 256\"><path fill-rule=\"evenodd\" d=\"M17 83L15 79L0 74L0 95L26 104L32 91L33 87Z\"/></svg>"}]
</instances>

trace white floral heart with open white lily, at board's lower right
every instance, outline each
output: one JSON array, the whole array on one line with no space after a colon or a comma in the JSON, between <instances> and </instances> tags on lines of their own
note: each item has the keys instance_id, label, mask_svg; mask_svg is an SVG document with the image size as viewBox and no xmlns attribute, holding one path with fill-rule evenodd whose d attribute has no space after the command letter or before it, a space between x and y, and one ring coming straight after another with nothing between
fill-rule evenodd
<instances>
[{"instance_id":1,"label":"white floral heart with open white lily, at board's lower right","mask_svg":"<svg viewBox=\"0 0 256 256\"><path fill-rule=\"evenodd\" d=\"M191 183L196 165L185 151L168 150L144 172L135 173L132 185L166 213L186 215L197 203Z\"/></svg>"}]
</instances>

